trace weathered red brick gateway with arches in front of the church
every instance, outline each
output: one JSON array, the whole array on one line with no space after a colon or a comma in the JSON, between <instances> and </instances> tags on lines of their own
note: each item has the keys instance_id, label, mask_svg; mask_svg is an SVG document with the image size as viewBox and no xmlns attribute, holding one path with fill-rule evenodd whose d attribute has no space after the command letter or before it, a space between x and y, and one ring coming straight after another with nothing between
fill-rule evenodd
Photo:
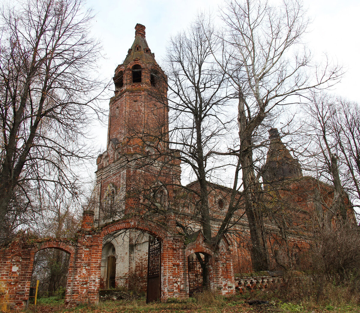
<instances>
[{"instance_id":1,"label":"weathered red brick gateway with arches in front of the church","mask_svg":"<svg viewBox=\"0 0 360 313\"><path fill-rule=\"evenodd\" d=\"M210 251L201 236L185 247L184 237L176 233L175 214L172 210L168 211L161 224L134 215L114 221L102 229L96 229L93 217L93 211L84 211L82 226L78 231L76 241L67 239L31 241L25 240L19 234L12 244L0 251L2 261L0 282L8 290L7 297L11 307L24 308L26 305L34 255L37 251L46 248L61 249L71 255L65 302L68 305L97 303L103 238L114 231L123 229L146 231L153 236L152 238L157 238L154 241L161 242L159 276L158 278L148 277L149 280L155 281L154 284L159 284L160 299L189 295L188 256L198 251ZM229 268L226 268L224 253L226 254L226 247L221 248L219 255L212 257L210 262L212 268L210 283L212 287L222 289L223 292L227 290L228 279L232 275ZM226 283L219 275L225 277ZM148 294L154 292L156 293L156 290L148 290ZM233 293L233 289L228 290L227 293Z\"/></svg>"}]
</instances>

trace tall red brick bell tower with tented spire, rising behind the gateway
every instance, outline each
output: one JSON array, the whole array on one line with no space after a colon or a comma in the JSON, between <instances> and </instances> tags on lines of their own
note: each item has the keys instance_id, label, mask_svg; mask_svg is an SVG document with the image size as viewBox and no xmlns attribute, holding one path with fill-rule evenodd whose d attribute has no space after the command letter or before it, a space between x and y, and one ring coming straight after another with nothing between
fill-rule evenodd
<instances>
[{"instance_id":1,"label":"tall red brick bell tower with tented spire, rising behind the gateway","mask_svg":"<svg viewBox=\"0 0 360 313\"><path fill-rule=\"evenodd\" d=\"M145 26L136 24L134 43L113 81L107 151L96 162L95 225L143 210L156 192L166 210L180 181L180 164L168 145L167 77L148 46Z\"/></svg>"}]
</instances>

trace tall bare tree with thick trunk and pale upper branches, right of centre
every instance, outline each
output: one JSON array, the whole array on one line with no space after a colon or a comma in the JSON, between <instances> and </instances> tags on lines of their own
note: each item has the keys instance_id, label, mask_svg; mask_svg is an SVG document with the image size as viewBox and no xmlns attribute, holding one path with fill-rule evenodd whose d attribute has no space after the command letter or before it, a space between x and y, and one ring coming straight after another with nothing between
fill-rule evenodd
<instances>
[{"instance_id":1,"label":"tall bare tree with thick trunk and pale upper branches, right of centre","mask_svg":"<svg viewBox=\"0 0 360 313\"><path fill-rule=\"evenodd\" d=\"M271 6L266 1L229 1L221 10L225 23L224 72L237 92L239 160L242 167L246 214L252 240L254 270L267 270L269 258L260 205L260 175L253 155L263 144L262 127L271 125L282 105L299 103L311 89L326 88L341 76L328 64L320 71L301 42L307 29L302 6L283 1ZM228 63L232 66L228 66Z\"/></svg>"}]
</instances>

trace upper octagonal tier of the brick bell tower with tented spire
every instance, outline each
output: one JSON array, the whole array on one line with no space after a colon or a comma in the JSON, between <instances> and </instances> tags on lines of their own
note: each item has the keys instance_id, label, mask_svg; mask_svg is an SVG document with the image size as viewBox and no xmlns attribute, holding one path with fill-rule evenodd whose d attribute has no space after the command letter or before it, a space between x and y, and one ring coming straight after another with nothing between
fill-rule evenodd
<instances>
[{"instance_id":1,"label":"upper octagonal tier of the brick bell tower with tented spire","mask_svg":"<svg viewBox=\"0 0 360 313\"><path fill-rule=\"evenodd\" d=\"M136 24L135 40L125 60L115 69L115 95L110 100L108 146L118 142L125 153L146 150L148 141L167 147L167 77L145 38L145 26ZM150 138L152 137L152 138ZM139 146L141 145L141 147ZM132 151L130 151L132 149Z\"/></svg>"}]
</instances>

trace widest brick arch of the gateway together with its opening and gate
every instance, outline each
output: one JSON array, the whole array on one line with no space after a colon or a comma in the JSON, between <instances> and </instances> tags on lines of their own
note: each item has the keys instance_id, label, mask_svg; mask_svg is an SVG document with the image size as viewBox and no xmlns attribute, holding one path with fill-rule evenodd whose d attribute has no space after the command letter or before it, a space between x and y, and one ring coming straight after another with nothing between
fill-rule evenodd
<instances>
[{"instance_id":1,"label":"widest brick arch of the gateway together with its opening and gate","mask_svg":"<svg viewBox=\"0 0 360 313\"><path fill-rule=\"evenodd\" d=\"M123 233L129 230L129 233ZM133 230L140 232L134 233ZM115 286L136 288L146 291L147 302L159 300L164 296L161 293L162 282L168 276L167 272L164 275L169 252L166 248L168 230L154 221L134 216L105 225L101 231L103 244L122 233L123 242L117 244L116 241L114 256L102 253L105 257L102 257L100 288ZM138 242L139 237L141 239Z\"/></svg>"}]
</instances>

